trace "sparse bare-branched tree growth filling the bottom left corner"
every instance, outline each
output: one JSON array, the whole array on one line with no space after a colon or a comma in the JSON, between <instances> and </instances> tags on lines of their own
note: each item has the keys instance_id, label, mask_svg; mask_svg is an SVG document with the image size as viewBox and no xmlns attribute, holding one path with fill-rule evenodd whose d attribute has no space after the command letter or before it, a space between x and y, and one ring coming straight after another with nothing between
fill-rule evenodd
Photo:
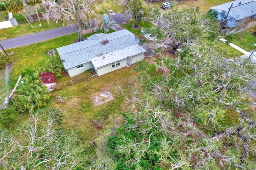
<instances>
[{"instance_id":1,"label":"sparse bare-branched tree growth filling the bottom left corner","mask_svg":"<svg viewBox=\"0 0 256 170\"><path fill-rule=\"evenodd\" d=\"M58 130L62 113L57 109L50 109L47 114L46 124L42 126L44 110L30 111L30 123L21 129L24 141L12 137L6 130L1 130L2 167L72 169L82 165L84 157L79 156L82 149L77 144L76 134Z\"/></svg>"}]
</instances>

